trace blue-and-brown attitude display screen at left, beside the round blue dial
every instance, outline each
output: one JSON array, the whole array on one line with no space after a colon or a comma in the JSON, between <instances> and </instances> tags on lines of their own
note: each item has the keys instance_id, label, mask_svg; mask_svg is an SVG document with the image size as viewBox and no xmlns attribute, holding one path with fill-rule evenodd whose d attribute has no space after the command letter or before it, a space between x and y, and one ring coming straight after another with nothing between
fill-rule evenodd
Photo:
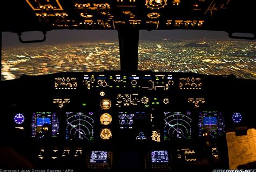
<instances>
[{"instance_id":1,"label":"blue-and-brown attitude display screen at left, beside the round blue dial","mask_svg":"<svg viewBox=\"0 0 256 172\"><path fill-rule=\"evenodd\" d=\"M59 121L54 112L32 113L32 138L42 139L57 137L59 134Z\"/></svg>"}]
</instances>

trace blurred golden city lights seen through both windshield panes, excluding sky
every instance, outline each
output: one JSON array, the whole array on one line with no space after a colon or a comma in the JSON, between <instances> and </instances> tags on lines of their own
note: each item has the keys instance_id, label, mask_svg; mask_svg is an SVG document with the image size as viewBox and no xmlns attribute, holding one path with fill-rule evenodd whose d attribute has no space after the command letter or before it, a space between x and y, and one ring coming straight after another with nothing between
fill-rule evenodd
<instances>
[{"instance_id":1,"label":"blurred golden city lights seen through both windshield panes, excluding sky","mask_svg":"<svg viewBox=\"0 0 256 172\"><path fill-rule=\"evenodd\" d=\"M22 45L23 46L23 45ZM140 41L139 70L229 75L256 79L256 42ZM118 42L2 47L1 80L22 74L119 70Z\"/></svg>"}]
</instances>

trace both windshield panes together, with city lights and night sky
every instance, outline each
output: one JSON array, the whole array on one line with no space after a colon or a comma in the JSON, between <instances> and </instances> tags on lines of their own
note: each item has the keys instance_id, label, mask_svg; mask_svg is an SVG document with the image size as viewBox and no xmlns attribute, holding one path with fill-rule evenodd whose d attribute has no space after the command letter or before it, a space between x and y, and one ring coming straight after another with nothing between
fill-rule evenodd
<instances>
[{"instance_id":1,"label":"both windshield panes together, with city lights and night sky","mask_svg":"<svg viewBox=\"0 0 256 172\"><path fill-rule=\"evenodd\" d=\"M230 39L226 32L213 31L140 31L139 35L139 70L256 79L256 41ZM60 30L46 36L43 43L22 44L16 33L3 32L1 80L22 74L120 70L117 31ZM22 35L24 40L41 37L41 33Z\"/></svg>"}]
</instances>

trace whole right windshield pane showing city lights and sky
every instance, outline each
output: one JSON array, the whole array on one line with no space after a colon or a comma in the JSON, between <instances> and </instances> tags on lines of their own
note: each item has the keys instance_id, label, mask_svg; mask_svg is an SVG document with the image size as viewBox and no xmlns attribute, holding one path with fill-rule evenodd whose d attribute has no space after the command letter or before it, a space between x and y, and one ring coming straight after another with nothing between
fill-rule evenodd
<instances>
[{"instance_id":1,"label":"whole right windshield pane showing city lights and sky","mask_svg":"<svg viewBox=\"0 0 256 172\"><path fill-rule=\"evenodd\" d=\"M256 41L217 31L141 31L139 70L256 79Z\"/></svg>"}]
</instances>

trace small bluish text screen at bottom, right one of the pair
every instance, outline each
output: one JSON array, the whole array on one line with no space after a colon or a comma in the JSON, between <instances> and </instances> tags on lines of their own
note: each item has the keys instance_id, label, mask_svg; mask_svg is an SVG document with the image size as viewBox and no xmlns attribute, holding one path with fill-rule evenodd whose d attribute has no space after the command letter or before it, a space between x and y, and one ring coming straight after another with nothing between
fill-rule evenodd
<instances>
[{"instance_id":1,"label":"small bluish text screen at bottom, right one of the pair","mask_svg":"<svg viewBox=\"0 0 256 172\"><path fill-rule=\"evenodd\" d=\"M169 155L167 150L152 150L151 163L169 163Z\"/></svg>"}]
</instances>

